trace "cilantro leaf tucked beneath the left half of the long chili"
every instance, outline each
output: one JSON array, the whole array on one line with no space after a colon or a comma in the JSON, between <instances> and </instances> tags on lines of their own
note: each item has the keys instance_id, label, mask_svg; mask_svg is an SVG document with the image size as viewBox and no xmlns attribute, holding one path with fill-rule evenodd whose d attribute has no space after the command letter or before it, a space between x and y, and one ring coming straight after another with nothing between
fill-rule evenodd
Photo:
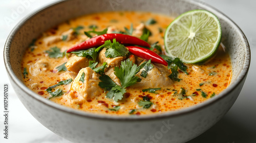
<instances>
[{"instance_id":1,"label":"cilantro leaf tucked beneath the left half of the long chili","mask_svg":"<svg viewBox=\"0 0 256 143\"><path fill-rule=\"evenodd\" d=\"M75 51L71 52L73 54L76 54L78 57L87 57L89 59L93 59L93 61L96 60L98 53L95 51L95 47L87 49L87 50L81 50L81 51Z\"/></svg>"}]
</instances>

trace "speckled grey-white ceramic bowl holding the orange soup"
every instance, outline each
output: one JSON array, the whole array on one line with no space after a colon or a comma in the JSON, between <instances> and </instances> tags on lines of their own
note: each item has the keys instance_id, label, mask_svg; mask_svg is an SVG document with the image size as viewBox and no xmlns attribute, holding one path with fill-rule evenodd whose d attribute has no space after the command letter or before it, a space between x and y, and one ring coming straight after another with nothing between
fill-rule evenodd
<instances>
[{"instance_id":1,"label":"speckled grey-white ceramic bowl holding the orange soup","mask_svg":"<svg viewBox=\"0 0 256 143\"><path fill-rule=\"evenodd\" d=\"M70 18L102 11L151 11L170 16L208 10L220 19L232 63L232 81L218 96L197 106L144 116L92 114L53 103L22 82L21 60L32 39ZM250 64L250 48L231 19L202 2L180 0L70 0L59 1L28 15L11 31L4 49L10 82L18 98L42 125L73 142L185 142L216 124L236 101Z\"/></svg>"}]
</instances>

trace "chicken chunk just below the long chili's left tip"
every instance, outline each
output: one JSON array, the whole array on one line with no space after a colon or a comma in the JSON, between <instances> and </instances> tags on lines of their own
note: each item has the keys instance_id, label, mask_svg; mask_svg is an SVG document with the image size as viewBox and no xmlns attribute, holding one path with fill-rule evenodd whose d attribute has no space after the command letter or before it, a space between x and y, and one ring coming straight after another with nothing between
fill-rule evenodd
<instances>
[{"instance_id":1,"label":"chicken chunk just below the long chili's left tip","mask_svg":"<svg viewBox=\"0 0 256 143\"><path fill-rule=\"evenodd\" d=\"M76 54L72 54L65 66L69 71L78 73L80 69L89 66L89 61L86 57L78 57Z\"/></svg>"}]
</instances>

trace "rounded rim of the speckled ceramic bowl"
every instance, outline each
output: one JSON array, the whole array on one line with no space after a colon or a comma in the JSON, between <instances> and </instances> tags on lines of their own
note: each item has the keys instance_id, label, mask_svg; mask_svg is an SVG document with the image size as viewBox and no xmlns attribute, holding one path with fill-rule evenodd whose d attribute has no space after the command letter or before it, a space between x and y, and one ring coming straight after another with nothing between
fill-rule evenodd
<instances>
[{"instance_id":1,"label":"rounded rim of the speckled ceramic bowl","mask_svg":"<svg viewBox=\"0 0 256 143\"><path fill-rule=\"evenodd\" d=\"M231 92L234 88L239 86L240 82L242 82L248 73L249 66L250 66L250 46L248 43L248 40L246 36L244 35L243 31L238 27L238 25L232 21L228 16L223 14L221 11L217 10L216 8L199 1L188 1L188 0L182 0L182 2L190 3L199 6L200 8L204 8L209 10L210 12L217 15L217 17L221 16L225 21L233 25L233 28L237 30L239 34L241 34L241 38L243 42L245 43L245 49L246 51L246 57L245 62L243 63L243 68L240 72L240 74L237 77L237 80L234 81L231 85L229 85L226 89L224 89L218 96L215 96L214 98L211 98L210 100L206 100L203 103L200 103L198 105L190 106L187 108L175 110L175 111L167 111L164 113L157 113L157 114L149 114L149 115L141 115L141 116L123 116L123 115L106 115L106 114L96 114L96 113L90 113L86 111L80 111L73 108L69 108L66 106L59 105L57 103L54 103L52 101L46 100L45 98L42 98L38 96L35 92L30 90L22 81L20 81L17 76L14 74L11 64L10 64L10 58L9 58L9 48L10 43L13 40L13 35L16 34L16 32L19 30L20 27L22 27L30 18L33 18L35 15L37 15L39 12L45 11L48 8L51 8L53 6L62 4L68 2L68 0L61 0L57 2L52 2L50 4L47 4L45 6L42 6L41 8L31 12L27 16L25 16L22 20L20 20L16 26L12 29L10 32L4 47L4 63L7 70L7 73L9 75L9 79L12 80L20 89L22 89L25 93L27 93L31 98L37 100L38 102L45 104L47 106L50 106L51 108L54 108L56 110L66 112L68 114L80 116L80 117L86 117L86 118L93 118L94 120L108 120L108 121L145 121L145 120L155 120L155 119L163 119L163 118L169 118L174 116L181 116L184 114L192 113L201 109L204 109L206 106L210 106L219 100L225 98L228 96L228 93Z\"/></svg>"}]
</instances>

